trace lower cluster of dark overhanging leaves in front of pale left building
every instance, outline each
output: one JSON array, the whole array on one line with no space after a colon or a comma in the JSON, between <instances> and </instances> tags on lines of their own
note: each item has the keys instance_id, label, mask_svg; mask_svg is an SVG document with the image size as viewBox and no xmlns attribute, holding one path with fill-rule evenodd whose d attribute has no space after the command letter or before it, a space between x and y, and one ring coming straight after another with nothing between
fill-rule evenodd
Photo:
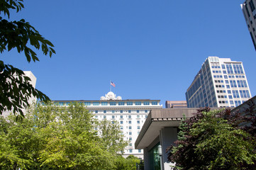
<instances>
[{"instance_id":1,"label":"lower cluster of dark overhanging leaves in front of pale left building","mask_svg":"<svg viewBox=\"0 0 256 170\"><path fill-rule=\"evenodd\" d=\"M35 96L41 101L49 101L50 98L41 91L34 89L20 69L6 65L0 61L0 111L13 111L23 117L23 108L28 108L29 98ZM18 118L18 117L17 117Z\"/></svg>"}]
</instances>

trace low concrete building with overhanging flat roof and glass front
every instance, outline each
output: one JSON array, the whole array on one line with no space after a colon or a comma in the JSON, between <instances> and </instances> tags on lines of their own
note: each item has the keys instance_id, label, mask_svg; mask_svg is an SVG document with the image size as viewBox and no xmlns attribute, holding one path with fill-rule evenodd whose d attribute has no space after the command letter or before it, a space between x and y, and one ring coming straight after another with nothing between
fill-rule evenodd
<instances>
[{"instance_id":1,"label":"low concrete building with overhanging flat roof and glass front","mask_svg":"<svg viewBox=\"0 0 256 170\"><path fill-rule=\"evenodd\" d=\"M191 118L197 108L162 108L150 111L140 135L135 142L135 149L143 149L145 170L170 170L167 160L167 147L177 140L177 130L183 115Z\"/></svg>"}]
</instances>

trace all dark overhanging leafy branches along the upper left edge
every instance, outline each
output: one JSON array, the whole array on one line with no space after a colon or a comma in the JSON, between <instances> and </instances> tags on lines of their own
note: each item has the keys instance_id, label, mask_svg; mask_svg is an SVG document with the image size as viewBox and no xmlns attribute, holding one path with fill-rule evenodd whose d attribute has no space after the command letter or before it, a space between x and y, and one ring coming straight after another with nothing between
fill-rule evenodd
<instances>
[{"instance_id":1,"label":"all dark overhanging leafy branches along the upper left edge","mask_svg":"<svg viewBox=\"0 0 256 170\"><path fill-rule=\"evenodd\" d=\"M30 48L35 47L51 57L52 53L55 53L52 43L43 38L30 23L24 19L9 21L11 10L18 13L24 8L22 2L23 0L0 0L0 52L16 48L18 53L24 52L28 62L35 62L39 61L38 56ZM7 16L8 20L2 18L3 15ZM0 60L0 72L0 114L9 110L23 117L22 108L28 108L28 98L31 96L40 98L41 101L50 101L48 96L29 84L30 78L26 77L21 69L4 64Z\"/></svg>"}]
</instances>

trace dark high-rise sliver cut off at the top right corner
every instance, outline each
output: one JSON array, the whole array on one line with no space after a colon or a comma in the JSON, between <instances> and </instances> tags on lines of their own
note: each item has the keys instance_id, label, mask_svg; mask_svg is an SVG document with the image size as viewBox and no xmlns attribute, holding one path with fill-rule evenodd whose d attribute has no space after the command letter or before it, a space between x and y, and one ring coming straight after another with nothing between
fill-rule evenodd
<instances>
[{"instance_id":1,"label":"dark high-rise sliver cut off at the top right corner","mask_svg":"<svg viewBox=\"0 0 256 170\"><path fill-rule=\"evenodd\" d=\"M250 36L252 38L253 45L256 50L256 0L246 0L243 4L241 4L241 8L243 11L243 16L245 16L245 21L247 27L250 32Z\"/></svg>"}]
</instances>

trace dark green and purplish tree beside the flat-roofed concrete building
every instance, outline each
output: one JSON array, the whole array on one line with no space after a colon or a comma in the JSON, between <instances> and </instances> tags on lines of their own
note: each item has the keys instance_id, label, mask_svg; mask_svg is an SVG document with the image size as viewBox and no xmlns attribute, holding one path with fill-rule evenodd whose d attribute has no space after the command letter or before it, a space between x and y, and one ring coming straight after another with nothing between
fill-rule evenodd
<instances>
[{"instance_id":1,"label":"dark green and purplish tree beside the flat-roofed concrete building","mask_svg":"<svg viewBox=\"0 0 256 170\"><path fill-rule=\"evenodd\" d=\"M175 169L255 169L255 113L200 109L181 124L179 140L169 149ZM246 125L247 124L247 125Z\"/></svg>"}]
</instances>

